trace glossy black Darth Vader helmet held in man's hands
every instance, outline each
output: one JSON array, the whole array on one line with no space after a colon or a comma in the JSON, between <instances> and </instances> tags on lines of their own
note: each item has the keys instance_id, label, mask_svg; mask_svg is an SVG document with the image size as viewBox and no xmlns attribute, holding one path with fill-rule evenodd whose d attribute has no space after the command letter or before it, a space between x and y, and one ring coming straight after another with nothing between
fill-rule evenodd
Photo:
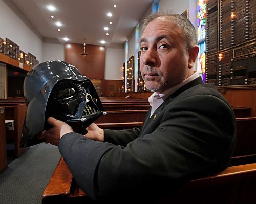
<instances>
[{"instance_id":1,"label":"glossy black Darth Vader helmet held in man's hands","mask_svg":"<svg viewBox=\"0 0 256 204\"><path fill-rule=\"evenodd\" d=\"M47 61L33 67L24 80L24 96L27 114L22 148L43 142L36 134L50 128L49 117L64 121L75 132L82 133L105 114L90 79L64 61Z\"/></svg>"}]
</instances>

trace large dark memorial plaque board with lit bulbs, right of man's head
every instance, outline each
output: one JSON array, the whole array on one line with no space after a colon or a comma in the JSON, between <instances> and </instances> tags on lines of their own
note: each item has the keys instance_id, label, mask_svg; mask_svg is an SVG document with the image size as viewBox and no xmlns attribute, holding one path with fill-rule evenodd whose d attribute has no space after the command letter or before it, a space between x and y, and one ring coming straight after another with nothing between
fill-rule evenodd
<instances>
[{"instance_id":1,"label":"large dark memorial plaque board with lit bulbs, right of man's head","mask_svg":"<svg viewBox=\"0 0 256 204\"><path fill-rule=\"evenodd\" d=\"M206 10L206 83L255 86L255 3L208 0Z\"/></svg>"}]
</instances>

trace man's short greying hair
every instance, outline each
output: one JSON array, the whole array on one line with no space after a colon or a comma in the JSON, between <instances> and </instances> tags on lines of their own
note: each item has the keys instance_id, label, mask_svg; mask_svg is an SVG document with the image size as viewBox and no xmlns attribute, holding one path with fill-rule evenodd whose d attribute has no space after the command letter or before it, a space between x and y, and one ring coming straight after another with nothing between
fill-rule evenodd
<instances>
[{"instance_id":1,"label":"man's short greying hair","mask_svg":"<svg viewBox=\"0 0 256 204\"><path fill-rule=\"evenodd\" d=\"M187 18L179 14L174 14L174 13L164 12L164 11L161 11L158 13L152 13L144 19L143 28L145 29L146 26L151 21L160 17L164 17L167 20L170 20L173 24L181 28L181 30L184 33L184 38L187 44L186 46L187 50L190 50L193 46L197 45L197 32L195 27L193 26L193 24L191 24L191 22Z\"/></svg>"}]
</instances>

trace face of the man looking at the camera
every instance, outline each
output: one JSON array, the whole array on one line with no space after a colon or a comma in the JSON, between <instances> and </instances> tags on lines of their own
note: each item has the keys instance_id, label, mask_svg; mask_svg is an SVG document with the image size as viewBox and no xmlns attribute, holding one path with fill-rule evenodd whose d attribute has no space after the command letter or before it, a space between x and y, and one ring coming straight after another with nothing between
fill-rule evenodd
<instances>
[{"instance_id":1,"label":"face of the man looking at the camera","mask_svg":"<svg viewBox=\"0 0 256 204\"><path fill-rule=\"evenodd\" d=\"M140 50L140 71L147 89L159 93L191 75L183 33L169 20L154 19L146 26Z\"/></svg>"}]
</instances>

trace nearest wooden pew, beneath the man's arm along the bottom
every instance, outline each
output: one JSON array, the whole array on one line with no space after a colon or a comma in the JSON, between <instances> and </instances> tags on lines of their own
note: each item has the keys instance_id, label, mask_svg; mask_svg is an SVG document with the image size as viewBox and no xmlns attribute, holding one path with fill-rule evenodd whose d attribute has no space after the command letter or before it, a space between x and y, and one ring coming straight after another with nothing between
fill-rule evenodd
<instances>
[{"instance_id":1,"label":"nearest wooden pew, beneath the man's arm along the bottom","mask_svg":"<svg viewBox=\"0 0 256 204\"><path fill-rule=\"evenodd\" d=\"M256 163L232 166L220 173L192 180L156 203L256 203L255 186ZM95 203L76 185L62 157L41 198L42 204Z\"/></svg>"}]
</instances>

